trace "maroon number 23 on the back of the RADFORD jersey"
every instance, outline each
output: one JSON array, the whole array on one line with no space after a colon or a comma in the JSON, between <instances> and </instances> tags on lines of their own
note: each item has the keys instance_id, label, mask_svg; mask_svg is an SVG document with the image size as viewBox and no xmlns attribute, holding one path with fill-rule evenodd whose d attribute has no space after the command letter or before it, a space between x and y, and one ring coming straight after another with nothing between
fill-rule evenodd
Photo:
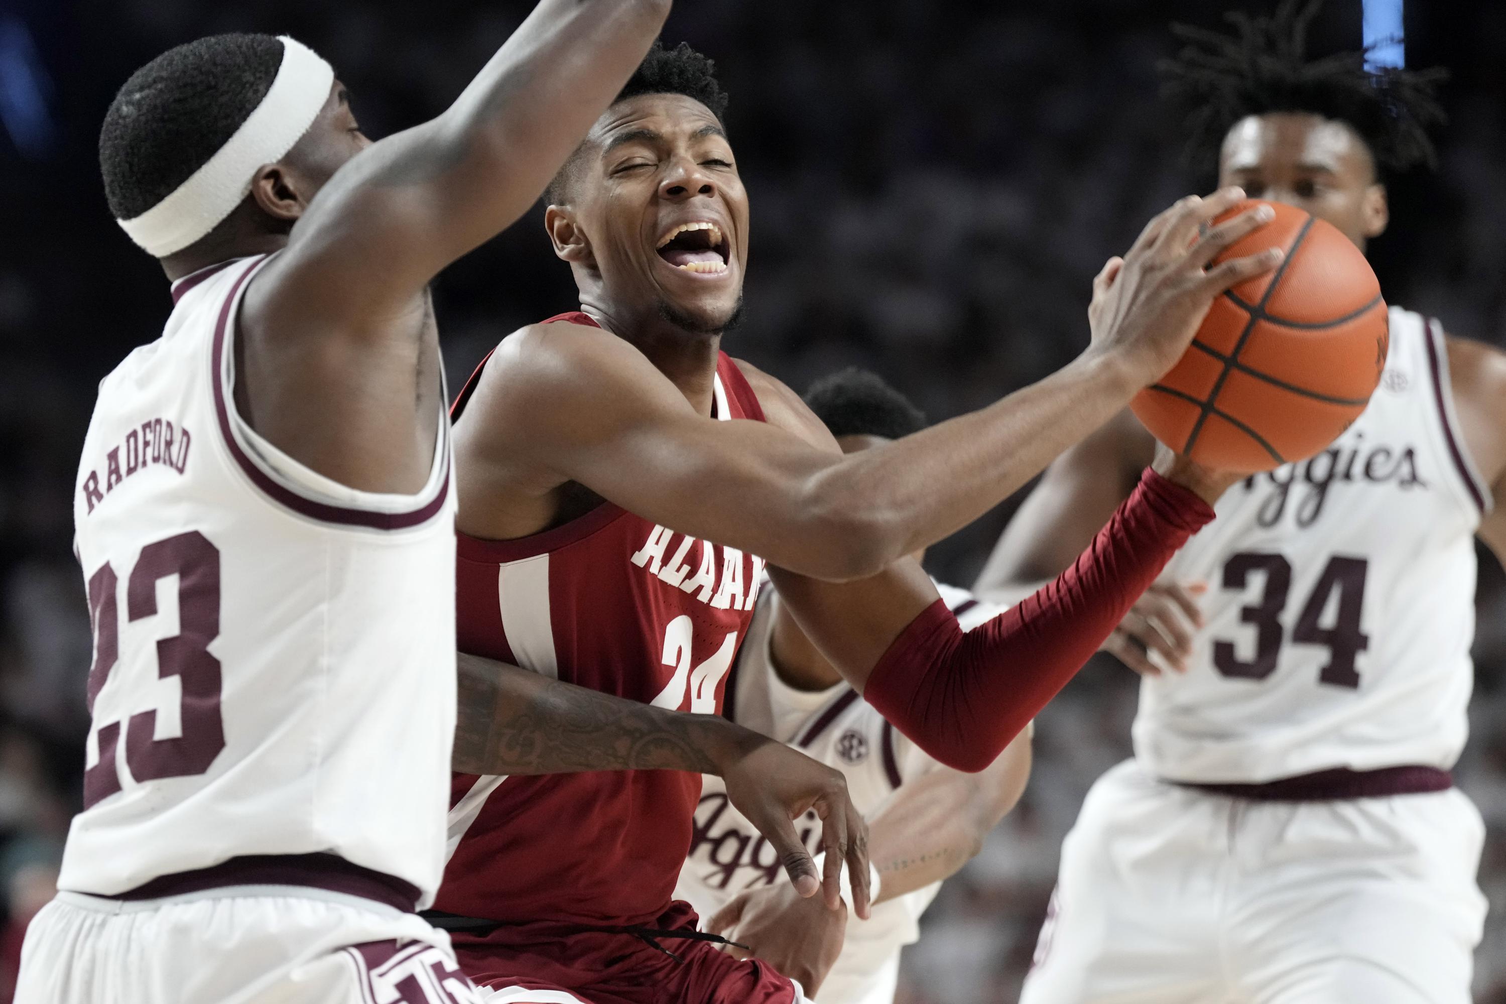
<instances>
[{"instance_id":1,"label":"maroon number 23 on the back of the RADFORD jersey","mask_svg":"<svg viewBox=\"0 0 1506 1004\"><path fill-rule=\"evenodd\" d=\"M178 634L157 643L157 676L176 676L182 686L182 732L157 739L157 710L131 715L125 727L125 763L137 781L203 774L224 748L220 716L220 661L209 643L220 635L220 549L191 530L142 548L125 587L128 622L157 616L157 583L178 577ZM89 712L120 655L119 580L105 561L89 577L89 619L95 658L89 667ZM99 762L84 771L84 808L120 790L116 747L120 723L96 724Z\"/></svg>"}]
</instances>

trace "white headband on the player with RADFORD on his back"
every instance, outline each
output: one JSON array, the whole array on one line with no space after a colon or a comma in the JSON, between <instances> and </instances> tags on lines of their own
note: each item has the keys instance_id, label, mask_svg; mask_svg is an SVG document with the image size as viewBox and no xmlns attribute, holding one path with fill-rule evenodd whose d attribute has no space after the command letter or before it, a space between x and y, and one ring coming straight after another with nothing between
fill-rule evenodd
<instances>
[{"instance_id":1,"label":"white headband on the player with RADFORD on his back","mask_svg":"<svg viewBox=\"0 0 1506 1004\"><path fill-rule=\"evenodd\" d=\"M220 226L252 190L256 170L283 158L330 98L334 69L288 36L267 96L224 146L172 194L134 220L116 220L155 257L175 254Z\"/></svg>"}]
</instances>

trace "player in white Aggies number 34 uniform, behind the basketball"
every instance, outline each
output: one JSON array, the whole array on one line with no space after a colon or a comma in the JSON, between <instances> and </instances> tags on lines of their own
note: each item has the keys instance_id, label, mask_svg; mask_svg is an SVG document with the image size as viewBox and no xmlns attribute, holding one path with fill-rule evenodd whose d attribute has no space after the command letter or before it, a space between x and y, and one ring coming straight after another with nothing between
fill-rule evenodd
<instances>
[{"instance_id":1,"label":"player in white Aggies number 34 uniform, behind the basketball","mask_svg":"<svg viewBox=\"0 0 1506 1004\"><path fill-rule=\"evenodd\" d=\"M1315 9L1185 32L1170 80L1223 184L1363 248L1386 230L1381 172L1432 157L1435 77L1306 62ZM1071 560L1151 449L1122 417L1068 452L979 589ZM1363 415L1224 495L1110 643L1143 673L1136 756L1062 847L1027 1004L1470 999L1483 828L1449 769L1474 537L1506 554L1503 501L1506 355L1393 307Z\"/></svg>"}]
</instances>

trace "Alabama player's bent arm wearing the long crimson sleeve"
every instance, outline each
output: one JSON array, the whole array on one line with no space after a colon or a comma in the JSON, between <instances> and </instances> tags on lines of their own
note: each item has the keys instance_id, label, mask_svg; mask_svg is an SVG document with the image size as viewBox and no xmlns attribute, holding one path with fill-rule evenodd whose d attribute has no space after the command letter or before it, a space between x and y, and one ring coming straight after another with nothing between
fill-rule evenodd
<instances>
[{"instance_id":1,"label":"Alabama player's bent arm wearing the long crimson sleeve","mask_svg":"<svg viewBox=\"0 0 1506 1004\"><path fill-rule=\"evenodd\" d=\"M765 405L771 421L812 438L830 435L794 394L768 400L779 402ZM982 771L1108 638L1187 537L1212 519L1212 500L1238 480L1170 453L1157 458L1157 468L1166 476L1145 471L1054 581L968 632L914 558L851 583L774 564L770 575L801 629L884 718L947 766Z\"/></svg>"}]
</instances>

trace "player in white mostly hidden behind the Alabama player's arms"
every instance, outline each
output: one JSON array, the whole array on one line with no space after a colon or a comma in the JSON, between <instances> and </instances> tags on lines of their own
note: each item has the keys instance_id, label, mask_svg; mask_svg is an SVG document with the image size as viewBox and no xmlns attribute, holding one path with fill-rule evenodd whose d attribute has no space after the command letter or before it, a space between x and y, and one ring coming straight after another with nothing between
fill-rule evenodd
<instances>
[{"instance_id":1,"label":"player in white mostly hidden behind the Alabama player's arms","mask_svg":"<svg viewBox=\"0 0 1506 1004\"><path fill-rule=\"evenodd\" d=\"M899 391L855 369L819 381L806 403L845 453L925 424ZM964 631L1001 613L965 590L937 589ZM890 1004L899 951L920 936L920 914L1024 792L1029 735L980 774L937 763L846 685L773 589L759 595L727 688L723 713L736 724L846 777L852 804L869 820L872 915L858 920L797 897L779 881L777 849L729 802L726 784L715 777L702 784L676 899L706 918L708 930L747 945L822 1004ZM815 813L807 813L800 829L815 853L821 829Z\"/></svg>"}]
</instances>

